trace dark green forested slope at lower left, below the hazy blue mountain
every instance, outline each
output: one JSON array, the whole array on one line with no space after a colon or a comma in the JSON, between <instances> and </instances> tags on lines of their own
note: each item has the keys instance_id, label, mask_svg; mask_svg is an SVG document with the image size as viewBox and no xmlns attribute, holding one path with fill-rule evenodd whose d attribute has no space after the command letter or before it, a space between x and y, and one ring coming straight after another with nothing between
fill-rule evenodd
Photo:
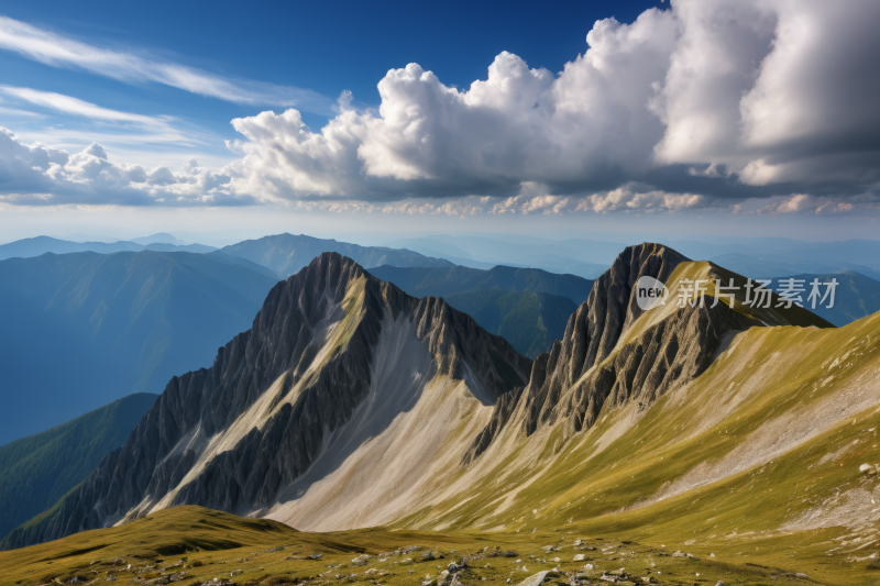
<instances>
[{"instance_id":1,"label":"dark green forested slope at lower left, below the hazy blue mountain","mask_svg":"<svg viewBox=\"0 0 880 586\"><path fill-rule=\"evenodd\" d=\"M130 395L0 446L0 535L50 508L128 440L157 395Z\"/></svg>"}]
</instances>

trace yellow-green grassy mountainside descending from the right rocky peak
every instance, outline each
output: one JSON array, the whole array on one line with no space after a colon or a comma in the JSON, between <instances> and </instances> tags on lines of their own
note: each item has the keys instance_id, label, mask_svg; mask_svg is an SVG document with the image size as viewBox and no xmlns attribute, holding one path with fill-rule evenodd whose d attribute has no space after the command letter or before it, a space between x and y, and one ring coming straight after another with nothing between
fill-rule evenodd
<instances>
[{"instance_id":1,"label":"yellow-green grassy mountainside descending from the right rocky peak","mask_svg":"<svg viewBox=\"0 0 880 586\"><path fill-rule=\"evenodd\" d=\"M865 494L880 502L877 476L859 471L880 463L879 397L880 316L842 329L754 328L617 439L603 442L637 407L602 412L595 428L561 449L559 430L538 433L528 440L543 442L537 460L524 463L518 445L484 482L396 527L571 528L679 546L696 540L694 553L748 555L829 584L880 583L864 560L880 554L880 542L871 543L880 516L861 502L854 505L861 521L850 513L835 527L831 519ZM695 482L670 491L689 475ZM823 527L798 524L811 511L827 518ZM828 555L846 534L859 541ZM855 574L839 578L844 567Z\"/></svg>"}]
</instances>

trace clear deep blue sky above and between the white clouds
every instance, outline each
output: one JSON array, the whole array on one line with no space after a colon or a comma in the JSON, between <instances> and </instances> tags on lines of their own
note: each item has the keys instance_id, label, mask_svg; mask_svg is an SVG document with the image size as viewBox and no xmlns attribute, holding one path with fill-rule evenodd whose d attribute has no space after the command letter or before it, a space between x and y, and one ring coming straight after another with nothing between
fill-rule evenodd
<instances>
[{"instance_id":1,"label":"clear deep blue sky above and between the white clouds","mask_svg":"<svg viewBox=\"0 0 880 586\"><path fill-rule=\"evenodd\" d=\"M586 49L593 22L614 15L630 22L659 1L562 2L538 10L534 2L10 2L3 13L67 38L151 59L176 63L230 80L264 82L315 92L304 100L302 118L320 128L333 115L343 90L361 107L377 107L376 84L391 68L424 64L449 85L485 78L502 51L531 66L560 70ZM243 104L155 82L125 82L76 67L55 67L10 51L0 52L2 84L76 97L103 108L151 117L174 117L193 133L204 133L194 154L233 158L223 140L235 137L229 121L283 104ZM77 130L79 143L94 142L88 120L23 104L46 118L0 124L36 137L47 123ZM97 134L97 132L92 133ZM70 136L72 134L67 134ZM120 145L125 147L125 145ZM168 144L157 145L157 162L170 163Z\"/></svg>"}]
</instances>

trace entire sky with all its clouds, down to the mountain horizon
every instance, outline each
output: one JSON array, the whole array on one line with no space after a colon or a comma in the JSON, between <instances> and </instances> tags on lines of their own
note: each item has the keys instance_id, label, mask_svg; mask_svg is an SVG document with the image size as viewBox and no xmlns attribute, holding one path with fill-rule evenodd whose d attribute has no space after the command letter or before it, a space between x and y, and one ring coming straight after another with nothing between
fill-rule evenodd
<instances>
[{"instance_id":1,"label":"entire sky with all its clouds, down to the mountain horizon","mask_svg":"<svg viewBox=\"0 0 880 586\"><path fill-rule=\"evenodd\" d=\"M880 235L875 0L0 10L3 242Z\"/></svg>"}]
</instances>

